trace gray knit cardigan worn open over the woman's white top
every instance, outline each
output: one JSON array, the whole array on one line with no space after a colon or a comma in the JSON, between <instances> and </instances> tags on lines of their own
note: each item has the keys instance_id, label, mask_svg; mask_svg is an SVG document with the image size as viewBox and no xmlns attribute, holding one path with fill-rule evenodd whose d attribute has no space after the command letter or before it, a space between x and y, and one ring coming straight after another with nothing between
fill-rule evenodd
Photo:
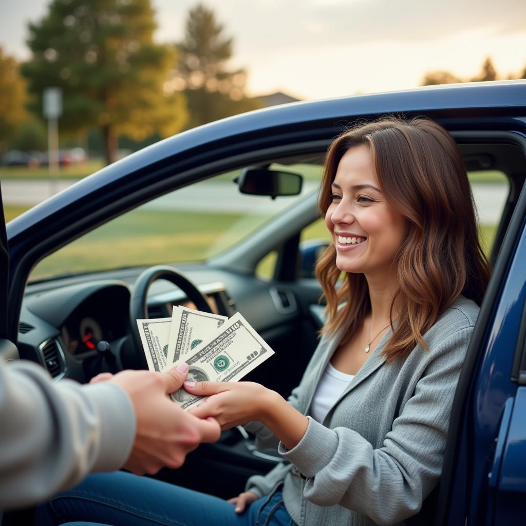
<instances>
[{"instance_id":1,"label":"gray knit cardigan worn open over the woman's white top","mask_svg":"<svg viewBox=\"0 0 526 526\"><path fill-rule=\"evenodd\" d=\"M268 494L284 483L285 505L299 526L404 524L438 484L451 405L479 307L459 297L403 360L386 363L389 331L322 423L309 418L291 450L252 422L261 449L285 462L254 476L247 490ZM323 336L289 402L308 414L319 379L338 346Z\"/></svg>"}]
</instances>

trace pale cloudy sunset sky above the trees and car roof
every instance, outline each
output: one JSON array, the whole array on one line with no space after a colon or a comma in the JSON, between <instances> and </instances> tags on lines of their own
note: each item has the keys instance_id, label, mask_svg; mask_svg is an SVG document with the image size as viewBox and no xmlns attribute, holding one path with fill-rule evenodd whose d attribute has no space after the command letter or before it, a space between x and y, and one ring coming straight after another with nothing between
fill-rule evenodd
<instances>
[{"instance_id":1,"label":"pale cloudy sunset sky above the trees and car roof","mask_svg":"<svg viewBox=\"0 0 526 526\"><path fill-rule=\"evenodd\" d=\"M27 23L50 0L0 0L0 46L22 60ZM197 0L151 0L155 39L178 42ZM526 0L206 0L234 38L247 94L320 99L417 87L426 72L460 78L490 56L506 78L526 66Z\"/></svg>"}]
</instances>

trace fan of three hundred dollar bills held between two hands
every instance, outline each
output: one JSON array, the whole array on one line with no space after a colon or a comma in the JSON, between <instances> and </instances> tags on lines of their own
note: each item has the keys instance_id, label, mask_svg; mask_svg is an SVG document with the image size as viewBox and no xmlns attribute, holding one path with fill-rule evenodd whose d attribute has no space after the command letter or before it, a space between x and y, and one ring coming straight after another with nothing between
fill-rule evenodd
<instances>
[{"instance_id":1,"label":"fan of three hundred dollar bills held between two hands","mask_svg":"<svg viewBox=\"0 0 526 526\"><path fill-rule=\"evenodd\" d=\"M171 318L137 320L137 325L151 371L186 361L188 380L195 382L236 382L274 354L239 312L227 318L174 307ZM182 388L170 398L183 409L204 400Z\"/></svg>"}]
</instances>

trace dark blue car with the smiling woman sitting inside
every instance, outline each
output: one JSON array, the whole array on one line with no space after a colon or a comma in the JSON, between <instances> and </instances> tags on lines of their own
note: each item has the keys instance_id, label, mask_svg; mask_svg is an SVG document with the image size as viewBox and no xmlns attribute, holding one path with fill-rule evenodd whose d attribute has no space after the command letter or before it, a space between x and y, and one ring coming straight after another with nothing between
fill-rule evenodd
<instances>
[{"instance_id":1,"label":"dark blue car with the smiling woman sitting inside","mask_svg":"<svg viewBox=\"0 0 526 526\"><path fill-rule=\"evenodd\" d=\"M526 81L259 110L160 141L78 181L6 225L1 352L87 382L145 367L137 318L170 316L174 305L239 310L277 355L247 379L287 396L323 323L312 274L328 242L316 205L323 156L347 125L390 113L428 116L456 139L493 265L441 482L411 520L524 524ZM286 178L290 188L276 184ZM100 341L109 346L97 350ZM235 428L157 477L228 498L279 461Z\"/></svg>"}]
</instances>

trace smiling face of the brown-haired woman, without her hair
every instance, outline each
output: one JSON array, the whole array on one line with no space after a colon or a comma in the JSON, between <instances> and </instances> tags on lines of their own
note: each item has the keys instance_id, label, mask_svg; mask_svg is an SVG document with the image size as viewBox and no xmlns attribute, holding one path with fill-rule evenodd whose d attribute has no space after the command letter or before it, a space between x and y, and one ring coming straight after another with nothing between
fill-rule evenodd
<instances>
[{"instance_id":1,"label":"smiling face of the brown-haired woman, without her hair","mask_svg":"<svg viewBox=\"0 0 526 526\"><path fill-rule=\"evenodd\" d=\"M371 277L390 275L408 221L380 191L369 146L352 147L341 158L325 223L340 270Z\"/></svg>"}]
</instances>

